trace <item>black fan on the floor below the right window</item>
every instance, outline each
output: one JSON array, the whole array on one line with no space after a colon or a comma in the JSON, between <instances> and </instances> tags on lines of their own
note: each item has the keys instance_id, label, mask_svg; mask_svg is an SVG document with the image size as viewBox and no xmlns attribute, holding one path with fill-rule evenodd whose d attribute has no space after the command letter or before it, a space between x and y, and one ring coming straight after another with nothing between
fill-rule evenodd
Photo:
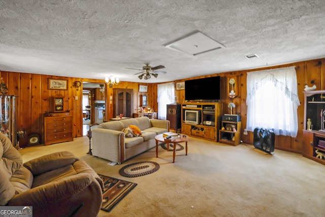
<instances>
[{"instance_id":1,"label":"black fan on the floor below the right window","mask_svg":"<svg viewBox=\"0 0 325 217\"><path fill-rule=\"evenodd\" d=\"M274 152L275 134L272 130L263 128L254 129L254 147L267 153Z\"/></svg>"}]
</instances>

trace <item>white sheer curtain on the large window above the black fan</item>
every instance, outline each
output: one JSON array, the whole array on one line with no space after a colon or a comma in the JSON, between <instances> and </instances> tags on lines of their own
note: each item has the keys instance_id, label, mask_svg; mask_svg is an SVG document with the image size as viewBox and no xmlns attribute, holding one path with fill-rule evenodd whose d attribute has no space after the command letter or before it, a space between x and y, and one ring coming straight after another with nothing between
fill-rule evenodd
<instances>
[{"instance_id":1,"label":"white sheer curtain on the large window above the black fan","mask_svg":"<svg viewBox=\"0 0 325 217\"><path fill-rule=\"evenodd\" d=\"M295 67L247 73L247 126L271 129L277 135L298 133L297 75Z\"/></svg>"}]
</instances>

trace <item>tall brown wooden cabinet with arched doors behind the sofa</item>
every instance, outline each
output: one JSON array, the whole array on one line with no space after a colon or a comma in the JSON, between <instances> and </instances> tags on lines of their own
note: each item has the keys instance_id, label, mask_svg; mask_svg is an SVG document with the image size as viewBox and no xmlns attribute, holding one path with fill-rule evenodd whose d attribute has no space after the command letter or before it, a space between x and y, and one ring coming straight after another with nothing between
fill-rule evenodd
<instances>
[{"instance_id":1,"label":"tall brown wooden cabinet with arched doors behind the sofa","mask_svg":"<svg viewBox=\"0 0 325 217\"><path fill-rule=\"evenodd\" d=\"M116 88L113 90L114 106L113 117L123 114L123 117L132 117L133 89Z\"/></svg>"}]
</instances>

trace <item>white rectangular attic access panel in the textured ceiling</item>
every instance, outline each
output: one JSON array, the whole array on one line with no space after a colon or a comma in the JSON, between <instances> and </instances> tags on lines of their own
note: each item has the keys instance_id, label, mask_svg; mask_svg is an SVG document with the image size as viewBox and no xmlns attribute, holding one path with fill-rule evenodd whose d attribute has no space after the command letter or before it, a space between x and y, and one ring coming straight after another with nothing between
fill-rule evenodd
<instances>
[{"instance_id":1,"label":"white rectangular attic access panel in the textured ceiling","mask_svg":"<svg viewBox=\"0 0 325 217\"><path fill-rule=\"evenodd\" d=\"M209 36L201 33L199 30L176 39L170 43L164 44L164 46L166 48L185 52L193 56L225 47Z\"/></svg>"}]
</instances>

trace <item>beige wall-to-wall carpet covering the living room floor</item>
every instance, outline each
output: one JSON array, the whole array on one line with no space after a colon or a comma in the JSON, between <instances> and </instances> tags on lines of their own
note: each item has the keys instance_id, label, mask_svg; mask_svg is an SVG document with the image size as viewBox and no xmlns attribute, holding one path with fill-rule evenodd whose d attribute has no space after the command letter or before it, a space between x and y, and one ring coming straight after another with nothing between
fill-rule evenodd
<instances>
[{"instance_id":1,"label":"beige wall-to-wall carpet covering the living room floor","mask_svg":"<svg viewBox=\"0 0 325 217\"><path fill-rule=\"evenodd\" d=\"M110 166L86 154L87 137L73 142L32 146L19 150L26 162L46 153L69 150L97 173L137 183L109 213L99 216L324 216L325 166L301 154L275 150L273 155L252 145L223 145L190 138L185 150L173 152L159 146L121 165ZM120 168L154 161L158 171L128 178Z\"/></svg>"}]
</instances>

